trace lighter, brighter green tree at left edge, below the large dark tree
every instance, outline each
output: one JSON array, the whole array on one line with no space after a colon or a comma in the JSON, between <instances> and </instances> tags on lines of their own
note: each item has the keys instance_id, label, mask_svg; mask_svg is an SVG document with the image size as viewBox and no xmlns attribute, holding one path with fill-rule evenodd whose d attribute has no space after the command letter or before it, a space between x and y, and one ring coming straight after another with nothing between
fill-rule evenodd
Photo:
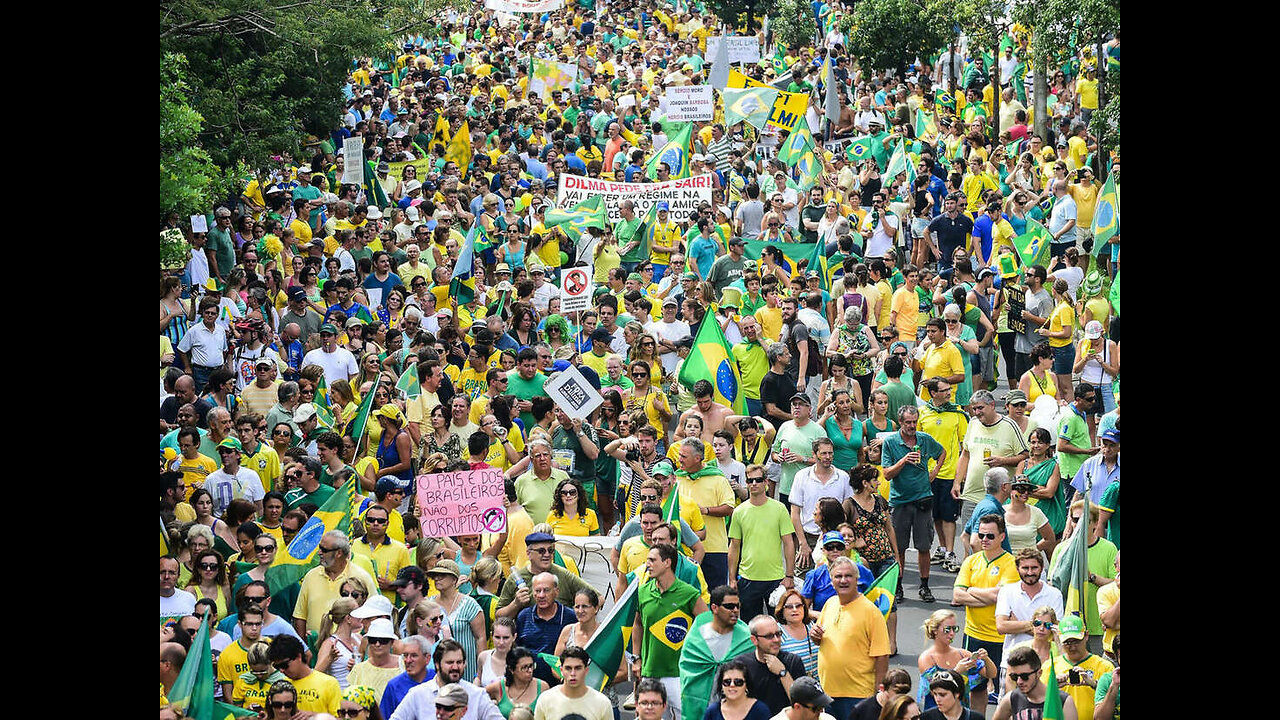
<instances>
[{"instance_id":1,"label":"lighter, brighter green tree at left edge, below the large dark tree","mask_svg":"<svg viewBox=\"0 0 1280 720\"><path fill-rule=\"evenodd\" d=\"M191 106L187 59L160 58L160 215L207 213L232 188L233 173L214 164L200 142L204 118ZM242 168L237 168L239 170ZM238 174L238 173L234 173Z\"/></svg>"}]
</instances>

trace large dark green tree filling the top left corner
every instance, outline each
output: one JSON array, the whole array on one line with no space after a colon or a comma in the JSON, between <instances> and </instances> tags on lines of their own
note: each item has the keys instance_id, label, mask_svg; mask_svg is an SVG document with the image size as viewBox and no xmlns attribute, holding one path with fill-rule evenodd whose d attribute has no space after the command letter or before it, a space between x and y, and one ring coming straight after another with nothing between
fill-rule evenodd
<instances>
[{"instance_id":1,"label":"large dark green tree filling the top left corner","mask_svg":"<svg viewBox=\"0 0 1280 720\"><path fill-rule=\"evenodd\" d=\"M403 33L438 26L434 15L457 1L163 0L160 50L188 60L214 163L261 168L338 123L353 58L389 58Z\"/></svg>"}]
</instances>

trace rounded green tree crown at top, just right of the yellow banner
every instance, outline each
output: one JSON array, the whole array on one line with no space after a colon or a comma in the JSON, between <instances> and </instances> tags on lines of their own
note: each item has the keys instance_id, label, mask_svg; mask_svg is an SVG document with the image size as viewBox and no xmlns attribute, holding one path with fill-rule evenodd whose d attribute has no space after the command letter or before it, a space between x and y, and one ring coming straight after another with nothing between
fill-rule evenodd
<instances>
[{"instance_id":1,"label":"rounded green tree crown at top, just right of the yellow banner","mask_svg":"<svg viewBox=\"0 0 1280 720\"><path fill-rule=\"evenodd\" d=\"M950 0L863 0L845 15L850 53L867 69L899 70L951 38Z\"/></svg>"}]
</instances>

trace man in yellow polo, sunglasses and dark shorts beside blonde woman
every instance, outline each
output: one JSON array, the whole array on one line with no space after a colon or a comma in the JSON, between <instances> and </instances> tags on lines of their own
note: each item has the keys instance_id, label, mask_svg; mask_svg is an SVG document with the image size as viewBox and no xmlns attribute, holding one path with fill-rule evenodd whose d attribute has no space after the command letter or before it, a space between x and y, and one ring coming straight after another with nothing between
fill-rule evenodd
<instances>
[{"instance_id":1,"label":"man in yellow polo, sunglasses and dark shorts beside blonde woman","mask_svg":"<svg viewBox=\"0 0 1280 720\"><path fill-rule=\"evenodd\" d=\"M1001 544L1004 539L1005 518L996 514L984 515L978 521L982 552L964 559L951 593L952 602L965 606L964 648L975 657L995 662L996 666L1000 665L1005 647L1005 635L996 629L996 597L1002 585L1021 580L1018 575L1018 562ZM972 691L986 693L986 688L987 682L983 680ZM974 707L974 711L982 714L984 708L986 703L982 703L982 707Z\"/></svg>"}]
</instances>

